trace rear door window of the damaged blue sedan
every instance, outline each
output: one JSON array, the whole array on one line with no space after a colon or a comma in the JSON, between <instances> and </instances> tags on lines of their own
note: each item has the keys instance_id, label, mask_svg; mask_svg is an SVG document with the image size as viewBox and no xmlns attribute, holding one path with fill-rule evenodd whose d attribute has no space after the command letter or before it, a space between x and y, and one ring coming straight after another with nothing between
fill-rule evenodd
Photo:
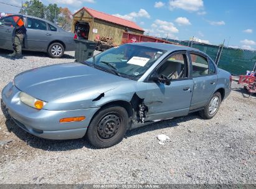
<instances>
[{"instance_id":1,"label":"rear door window of the damaged blue sedan","mask_svg":"<svg viewBox=\"0 0 256 189\"><path fill-rule=\"evenodd\" d=\"M193 53L191 53L190 56L192 61L192 76L207 75L209 73L207 58Z\"/></svg>"}]
</instances>

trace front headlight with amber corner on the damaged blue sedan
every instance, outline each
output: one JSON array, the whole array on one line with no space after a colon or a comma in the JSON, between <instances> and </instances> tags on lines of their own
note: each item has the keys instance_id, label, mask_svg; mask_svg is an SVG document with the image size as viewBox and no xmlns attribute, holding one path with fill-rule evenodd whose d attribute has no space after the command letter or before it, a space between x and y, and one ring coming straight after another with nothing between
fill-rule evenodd
<instances>
[{"instance_id":1,"label":"front headlight with amber corner on the damaged blue sedan","mask_svg":"<svg viewBox=\"0 0 256 189\"><path fill-rule=\"evenodd\" d=\"M31 106L32 108L42 109L46 104L44 101L40 99L36 99L29 94L26 93L19 93L19 98L21 99L22 103L27 104L27 106Z\"/></svg>"}]
</instances>

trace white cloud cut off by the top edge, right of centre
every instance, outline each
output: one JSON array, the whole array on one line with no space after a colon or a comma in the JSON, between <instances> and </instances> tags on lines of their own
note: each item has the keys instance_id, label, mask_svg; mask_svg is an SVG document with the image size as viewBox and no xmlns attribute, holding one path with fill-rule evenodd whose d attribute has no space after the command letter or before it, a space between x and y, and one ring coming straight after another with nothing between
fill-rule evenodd
<instances>
[{"instance_id":1,"label":"white cloud cut off by the top edge, right of centre","mask_svg":"<svg viewBox=\"0 0 256 189\"><path fill-rule=\"evenodd\" d=\"M183 9L185 11L199 11L204 7L202 0L170 0L169 9Z\"/></svg>"}]
</instances>

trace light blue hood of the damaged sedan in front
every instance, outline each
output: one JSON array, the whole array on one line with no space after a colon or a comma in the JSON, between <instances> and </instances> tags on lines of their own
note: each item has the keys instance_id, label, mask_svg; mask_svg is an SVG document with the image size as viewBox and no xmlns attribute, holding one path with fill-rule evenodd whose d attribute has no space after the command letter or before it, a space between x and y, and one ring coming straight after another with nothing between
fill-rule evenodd
<instances>
[{"instance_id":1,"label":"light blue hood of the damaged sedan in front","mask_svg":"<svg viewBox=\"0 0 256 189\"><path fill-rule=\"evenodd\" d=\"M34 98L49 102L90 88L103 93L127 80L82 63L65 63L22 72L14 78L14 84Z\"/></svg>"}]
</instances>

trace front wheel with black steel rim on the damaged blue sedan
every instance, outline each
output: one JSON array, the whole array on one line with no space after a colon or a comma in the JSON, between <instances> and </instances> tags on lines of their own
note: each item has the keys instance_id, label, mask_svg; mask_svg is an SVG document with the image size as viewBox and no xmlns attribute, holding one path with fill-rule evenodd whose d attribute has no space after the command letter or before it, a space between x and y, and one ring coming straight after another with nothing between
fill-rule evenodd
<instances>
[{"instance_id":1,"label":"front wheel with black steel rim on the damaged blue sedan","mask_svg":"<svg viewBox=\"0 0 256 189\"><path fill-rule=\"evenodd\" d=\"M93 118L86 138L97 148L107 148L123 140L128 128L128 113L120 106L107 106Z\"/></svg>"}]
</instances>

